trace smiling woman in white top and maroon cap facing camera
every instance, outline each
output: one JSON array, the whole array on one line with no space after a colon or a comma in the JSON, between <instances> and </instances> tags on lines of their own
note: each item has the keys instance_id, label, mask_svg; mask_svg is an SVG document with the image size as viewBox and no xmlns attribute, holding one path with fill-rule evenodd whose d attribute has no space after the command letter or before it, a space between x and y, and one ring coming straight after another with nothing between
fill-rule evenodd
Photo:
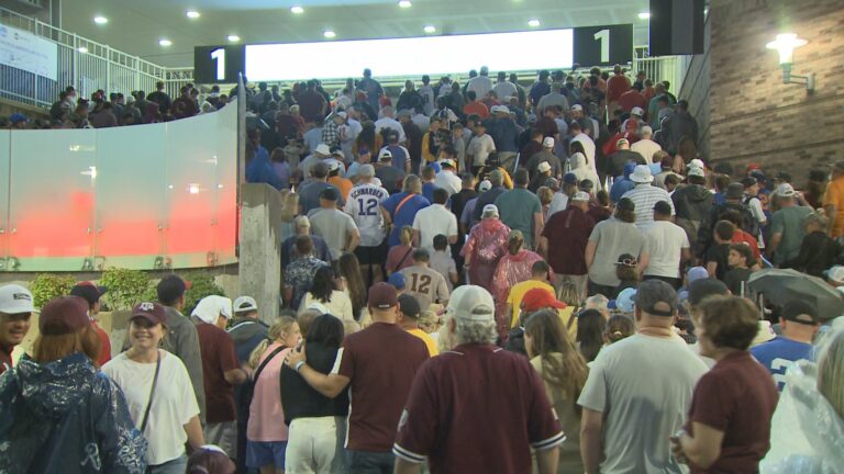
<instances>
[{"instance_id":1,"label":"smiling woman in white top and maroon cap facing camera","mask_svg":"<svg viewBox=\"0 0 844 474\"><path fill-rule=\"evenodd\" d=\"M102 366L125 395L132 420L148 441L147 473L184 473L185 443L204 444L199 405L181 360L159 349L167 331L164 307L141 303L132 311L131 347Z\"/></svg>"}]
</instances>

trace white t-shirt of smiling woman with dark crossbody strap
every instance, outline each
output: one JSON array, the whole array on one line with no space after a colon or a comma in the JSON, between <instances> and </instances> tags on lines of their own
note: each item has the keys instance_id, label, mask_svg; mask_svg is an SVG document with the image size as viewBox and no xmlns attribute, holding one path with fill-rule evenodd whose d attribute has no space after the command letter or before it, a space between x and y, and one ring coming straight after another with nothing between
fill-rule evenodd
<instances>
[{"instance_id":1,"label":"white t-shirt of smiling woman with dark crossbody strap","mask_svg":"<svg viewBox=\"0 0 844 474\"><path fill-rule=\"evenodd\" d=\"M185 425L199 415L197 396L193 394L188 370L179 358L159 349L162 365L155 384L153 405L146 422L145 438L147 464L163 464L185 454L188 435ZM149 402L149 391L155 377L154 363L135 362L123 352L102 366L108 375L123 391L129 414L138 429Z\"/></svg>"}]
</instances>

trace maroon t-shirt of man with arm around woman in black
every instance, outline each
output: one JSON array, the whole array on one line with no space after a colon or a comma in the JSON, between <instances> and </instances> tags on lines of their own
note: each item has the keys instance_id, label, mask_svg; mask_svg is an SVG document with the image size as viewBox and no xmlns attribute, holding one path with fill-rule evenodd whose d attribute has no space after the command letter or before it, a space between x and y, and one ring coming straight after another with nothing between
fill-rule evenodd
<instances>
[{"instance_id":1,"label":"maroon t-shirt of man with arm around woman in black","mask_svg":"<svg viewBox=\"0 0 844 474\"><path fill-rule=\"evenodd\" d=\"M397 325L375 323L346 337L337 357L333 372L352 380L346 449L389 452L427 347Z\"/></svg>"}]
</instances>

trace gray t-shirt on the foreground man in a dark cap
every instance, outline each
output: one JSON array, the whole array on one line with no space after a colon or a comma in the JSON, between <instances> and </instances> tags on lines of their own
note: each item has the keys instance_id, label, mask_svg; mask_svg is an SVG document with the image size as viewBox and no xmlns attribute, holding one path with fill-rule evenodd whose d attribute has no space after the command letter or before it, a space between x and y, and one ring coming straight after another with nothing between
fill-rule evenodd
<instances>
[{"instance_id":1,"label":"gray t-shirt on the foreground man in a dark cap","mask_svg":"<svg viewBox=\"0 0 844 474\"><path fill-rule=\"evenodd\" d=\"M679 337L634 335L601 350L577 404L603 414L603 474L684 473L668 437L686 421L703 361Z\"/></svg>"}]
</instances>

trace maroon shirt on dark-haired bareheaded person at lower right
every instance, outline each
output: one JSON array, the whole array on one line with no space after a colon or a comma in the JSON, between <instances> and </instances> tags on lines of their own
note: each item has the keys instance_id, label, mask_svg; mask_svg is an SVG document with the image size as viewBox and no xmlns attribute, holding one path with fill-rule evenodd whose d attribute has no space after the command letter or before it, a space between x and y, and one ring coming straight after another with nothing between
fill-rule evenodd
<instances>
[{"instance_id":1,"label":"maroon shirt on dark-haired bareheaded person at lower right","mask_svg":"<svg viewBox=\"0 0 844 474\"><path fill-rule=\"evenodd\" d=\"M755 473L770 448L770 417L777 407L777 387L770 373L747 351L728 354L700 377L689 410L697 421L724 432L721 456L708 470L692 474Z\"/></svg>"}]
</instances>

